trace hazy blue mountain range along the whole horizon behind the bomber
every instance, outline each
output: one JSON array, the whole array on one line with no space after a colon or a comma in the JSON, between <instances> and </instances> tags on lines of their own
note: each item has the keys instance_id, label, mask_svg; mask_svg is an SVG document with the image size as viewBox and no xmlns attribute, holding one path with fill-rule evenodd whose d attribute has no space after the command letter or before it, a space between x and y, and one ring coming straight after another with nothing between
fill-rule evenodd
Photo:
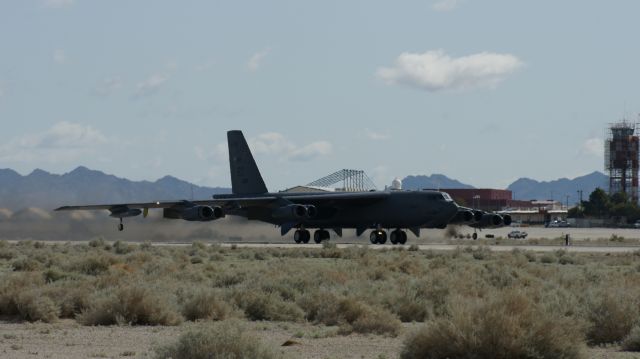
<instances>
[{"instance_id":1,"label":"hazy blue mountain range along the whole horizon behind the bomber","mask_svg":"<svg viewBox=\"0 0 640 359\"><path fill-rule=\"evenodd\" d=\"M593 172L575 179L539 182L521 178L507 189L515 199L555 199L577 202L578 190L584 198L596 188L606 188L608 177ZM404 189L474 188L442 174L407 176ZM152 202L157 200L208 199L213 194L230 193L230 188L202 187L165 176L155 182L131 181L80 166L62 175L36 169L26 176L11 169L0 169L0 208L12 211L37 207L51 210L61 205Z\"/></svg>"}]
</instances>

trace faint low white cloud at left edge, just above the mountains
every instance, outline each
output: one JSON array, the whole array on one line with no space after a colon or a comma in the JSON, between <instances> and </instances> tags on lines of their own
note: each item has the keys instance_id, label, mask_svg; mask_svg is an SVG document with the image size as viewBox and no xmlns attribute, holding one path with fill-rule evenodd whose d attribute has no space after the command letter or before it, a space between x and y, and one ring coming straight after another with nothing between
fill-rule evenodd
<instances>
[{"instance_id":1,"label":"faint low white cloud at left edge, just above the mountains","mask_svg":"<svg viewBox=\"0 0 640 359\"><path fill-rule=\"evenodd\" d=\"M72 161L109 140L91 126L62 121L50 129L9 140L0 146L0 160L7 162Z\"/></svg>"}]
</instances>

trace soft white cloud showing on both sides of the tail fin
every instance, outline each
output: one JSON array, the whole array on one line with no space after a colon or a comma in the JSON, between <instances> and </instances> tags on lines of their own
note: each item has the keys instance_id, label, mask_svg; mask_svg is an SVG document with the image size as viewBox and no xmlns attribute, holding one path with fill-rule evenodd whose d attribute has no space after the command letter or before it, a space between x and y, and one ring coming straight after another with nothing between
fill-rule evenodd
<instances>
[{"instance_id":1,"label":"soft white cloud showing on both sides of the tail fin","mask_svg":"<svg viewBox=\"0 0 640 359\"><path fill-rule=\"evenodd\" d=\"M248 138L247 143L254 156L265 155L280 161L310 161L333 152L333 145L328 141L315 141L299 146L277 132L266 132ZM226 161L229 159L226 143L219 143L213 149L196 147L194 150L196 157L201 160Z\"/></svg>"}]
</instances>

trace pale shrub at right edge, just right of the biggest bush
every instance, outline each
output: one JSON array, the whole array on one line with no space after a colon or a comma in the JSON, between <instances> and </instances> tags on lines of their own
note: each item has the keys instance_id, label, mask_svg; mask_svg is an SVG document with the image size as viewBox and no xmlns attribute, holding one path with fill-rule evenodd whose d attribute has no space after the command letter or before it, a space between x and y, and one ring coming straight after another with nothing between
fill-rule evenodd
<instances>
[{"instance_id":1,"label":"pale shrub at right edge, just right of the biggest bush","mask_svg":"<svg viewBox=\"0 0 640 359\"><path fill-rule=\"evenodd\" d=\"M638 300L624 289L592 293L587 304L587 340L590 344L623 340L638 320Z\"/></svg>"}]
</instances>

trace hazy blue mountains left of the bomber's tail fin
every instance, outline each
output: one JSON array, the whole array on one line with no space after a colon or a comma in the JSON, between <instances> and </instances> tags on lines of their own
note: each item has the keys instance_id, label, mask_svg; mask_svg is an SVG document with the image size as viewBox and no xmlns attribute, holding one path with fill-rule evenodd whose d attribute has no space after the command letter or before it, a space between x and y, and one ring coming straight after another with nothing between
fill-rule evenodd
<instances>
[{"instance_id":1,"label":"hazy blue mountains left of the bomber's tail fin","mask_svg":"<svg viewBox=\"0 0 640 359\"><path fill-rule=\"evenodd\" d=\"M191 199L192 190L194 199L231 192L229 188L200 187L171 176L155 182L130 181L82 166L63 175L36 169L21 176L13 170L0 169L0 208L13 211L28 207L50 210L72 204Z\"/></svg>"}]
</instances>

